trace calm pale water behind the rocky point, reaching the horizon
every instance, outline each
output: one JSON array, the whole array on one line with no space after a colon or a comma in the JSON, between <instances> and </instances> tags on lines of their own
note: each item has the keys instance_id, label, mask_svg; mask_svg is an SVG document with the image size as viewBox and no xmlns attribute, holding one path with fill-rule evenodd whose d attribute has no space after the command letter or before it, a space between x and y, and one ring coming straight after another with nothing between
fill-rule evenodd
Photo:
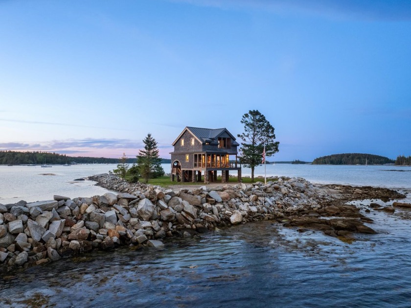
<instances>
[{"instance_id":1,"label":"calm pale water behind the rocky point, reaching the horizon","mask_svg":"<svg viewBox=\"0 0 411 308\"><path fill-rule=\"evenodd\" d=\"M162 164L170 172L170 164ZM20 200L34 202L53 199L53 195L70 198L91 197L108 190L95 186L92 181L74 181L90 175L107 173L115 164L73 166L0 166L0 203ZM331 166L276 164L257 166L254 176L302 177L312 183L369 185L387 188L411 189L411 167L407 166ZM233 175L237 176L236 172ZM242 176L251 176L251 169L243 167Z\"/></svg>"}]
</instances>

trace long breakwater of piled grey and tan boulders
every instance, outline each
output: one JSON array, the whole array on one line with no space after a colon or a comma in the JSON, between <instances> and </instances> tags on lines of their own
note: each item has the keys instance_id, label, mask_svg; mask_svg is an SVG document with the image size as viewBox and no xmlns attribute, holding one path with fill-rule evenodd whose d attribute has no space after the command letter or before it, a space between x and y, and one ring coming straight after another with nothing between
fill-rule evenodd
<instances>
[{"instance_id":1,"label":"long breakwater of piled grey and tan boulders","mask_svg":"<svg viewBox=\"0 0 411 308\"><path fill-rule=\"evenodd\" d=\"M266 185L242 183L178 191L130 184L109 174L90 179L117 193L0 204L0 271L94 249L161 248L165 237L192 237L216 226L268 219L290 224L286 217L326 213L327 203L340 193L286 177ZM361 230L365 229L354 231Z\"/></svg>"}]
</instances>

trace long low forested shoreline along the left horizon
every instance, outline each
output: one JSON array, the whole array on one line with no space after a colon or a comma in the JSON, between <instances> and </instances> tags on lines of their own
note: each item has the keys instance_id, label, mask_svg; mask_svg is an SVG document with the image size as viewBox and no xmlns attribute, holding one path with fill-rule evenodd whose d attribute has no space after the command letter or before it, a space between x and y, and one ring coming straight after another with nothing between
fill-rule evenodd
<instances>
[{"instance_id":1,"label":"long low forested shoreline along the left horizon","mask_svg":"<svg viewBox=\"0 0 411 308\"><path fill-rule=\"evenodd\" d=\"M136 163L137 158L129 158L127 163ZM162 159L167 164L169 159ZM48 152L0 151L0 165L64 165L64 164L118 164L119 158L67 156Z\"/></svg>"}]
</instances>

